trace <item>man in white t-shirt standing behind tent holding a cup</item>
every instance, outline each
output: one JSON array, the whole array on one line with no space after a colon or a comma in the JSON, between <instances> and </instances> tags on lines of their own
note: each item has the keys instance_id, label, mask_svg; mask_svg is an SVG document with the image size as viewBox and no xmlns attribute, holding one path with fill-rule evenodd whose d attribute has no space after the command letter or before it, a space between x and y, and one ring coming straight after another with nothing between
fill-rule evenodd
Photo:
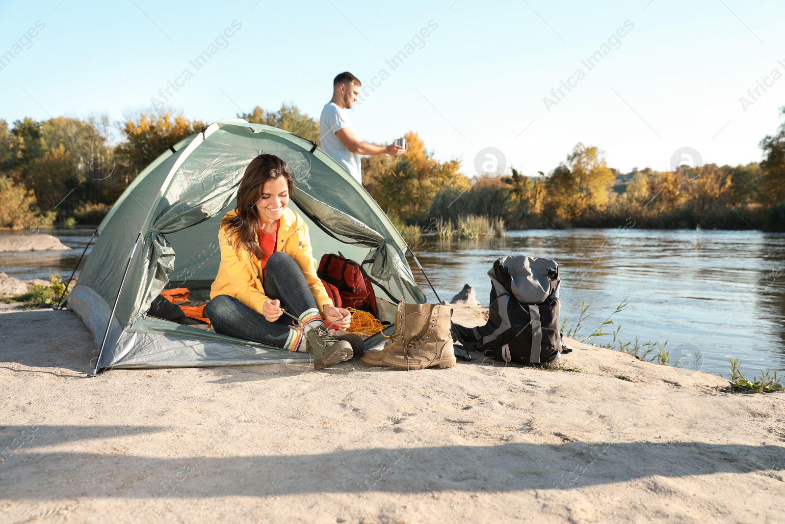
<instances>
[{"instance_id":1,"label":"man in white t-shirt standing behind tent holding a cup","mask_svg":"<svg viewBox=\"0 0 785 524\"><path fill-rule=\"evenodd\" d=\"M399 145L376 145L363 142L354 134L349 112L360 93L360 80L349 71L333 80L332 100L322 109L319 118L319 135L322 150L349 171L356 181L363 183L360 155L401 155L406 149Z\"/></svg>"}]
</instances>

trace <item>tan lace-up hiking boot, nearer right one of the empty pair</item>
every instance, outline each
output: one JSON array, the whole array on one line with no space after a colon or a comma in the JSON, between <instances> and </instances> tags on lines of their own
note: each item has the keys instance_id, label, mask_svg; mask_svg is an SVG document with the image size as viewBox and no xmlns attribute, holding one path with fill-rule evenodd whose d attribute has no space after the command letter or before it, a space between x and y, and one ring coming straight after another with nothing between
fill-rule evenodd
<instances>
[{"instance_id":1,"label":"tan lace-up hiking boot, nearer right one of the empty pair","mask_svg":"<svg viewBox=\"0 0 785 524\"><path fill-rule=\"evenodd\" d=\"M408 339L403 352L387 354L382 361L384 365L400 369L451 368L455 365L455 350L450 335L450 307L425 306L418 334Z\"/></svg>"}]
</instances>

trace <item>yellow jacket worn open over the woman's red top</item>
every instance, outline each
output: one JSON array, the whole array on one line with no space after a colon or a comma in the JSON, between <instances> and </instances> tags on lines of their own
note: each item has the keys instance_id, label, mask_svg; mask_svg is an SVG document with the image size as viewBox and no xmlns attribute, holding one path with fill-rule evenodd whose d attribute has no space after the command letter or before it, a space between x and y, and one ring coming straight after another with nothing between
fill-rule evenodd
<instances>
[{"instance_id":1,"label":"yellow jacket worn open over the woman's red top","mask_svg":"<svg viewBox=\"0 0 785 524\"><path fill-rule=\"evenodd\" d=\"M224 216L236 215L237 212L232 210ZM333 306L333 302L327 291L324 291L322 281L316 276L316 260L313 258L308 224L288 207L283 211L280 222L276 251L284 251L294 258L294 262L302 269L305 281L316 300L316 306L319 306L319 313L323 313L324 306ZM259 241L258 238L256 241ZM218 244L221 244L221 266L210 288L210 299L217 295L229 295L261 313L261 306L270 300L261 285L261 261L243 246L239 246L236 238L230 239L225 228L218 232Z\"/></svg>"}]
</instances>

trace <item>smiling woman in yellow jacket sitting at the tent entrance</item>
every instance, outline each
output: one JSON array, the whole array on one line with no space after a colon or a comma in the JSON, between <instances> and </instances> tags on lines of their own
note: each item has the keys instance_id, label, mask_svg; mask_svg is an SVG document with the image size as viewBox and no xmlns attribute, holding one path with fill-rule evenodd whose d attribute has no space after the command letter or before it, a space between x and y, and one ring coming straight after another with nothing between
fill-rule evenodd
<instances>
[{"instance_id":1,"label":"smiling woman in yellow jacket sitting at the tent entrance","mask_svg":"<svg viewBox=\"0 0 785 524\"><path fill-rule=\"evenodd\" d=\"M210 288L205 316L221 335L310 353L314 367L348 360L357 335L351 314L335 307L316 276L308 225L287 208L294 192L291 171L275 155L259 155L246 167L237 207L221 220L221 266ZM290 328L298 317L300 329ZM327 326L325 325L327 321Z\"/></svg>"}]
</instances>

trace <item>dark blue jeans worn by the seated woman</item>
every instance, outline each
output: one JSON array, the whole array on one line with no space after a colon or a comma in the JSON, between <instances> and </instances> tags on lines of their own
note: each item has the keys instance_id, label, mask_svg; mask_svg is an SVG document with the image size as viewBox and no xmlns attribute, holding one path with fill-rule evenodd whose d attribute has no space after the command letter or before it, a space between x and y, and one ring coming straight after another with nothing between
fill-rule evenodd
<instances>
[{"instance_id":1,"label":"dark blue jeans worn by the seated woman","mask_svg":"<svg viewBox=\"0 0 785 524\"><path fill-rule=\"evenodd\" d=\"M317 309L311 289L300 266L283 251L270 255L265 266L265 295L280 300L281 307L295 317L307 310ZM205 317L210 319L216 333L236 339L251 340L283 348L287 343L292 317L282 314L275 322L229 295L217 295L207 302Z\"/></svg>"}]
</instances>

